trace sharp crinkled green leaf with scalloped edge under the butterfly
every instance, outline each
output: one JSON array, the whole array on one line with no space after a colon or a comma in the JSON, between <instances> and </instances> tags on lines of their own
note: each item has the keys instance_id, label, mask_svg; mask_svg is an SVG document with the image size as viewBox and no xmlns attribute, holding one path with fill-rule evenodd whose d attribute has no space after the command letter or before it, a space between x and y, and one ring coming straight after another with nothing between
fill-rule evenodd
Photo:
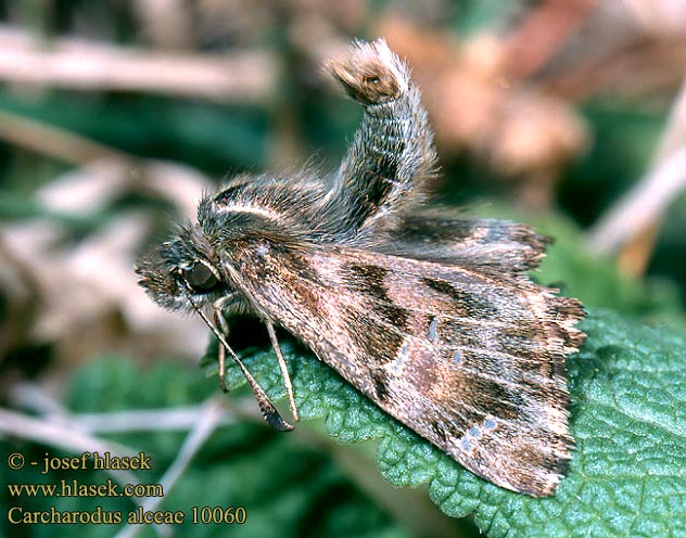
<instances>
[{"instance_id":1,"label":"sharp crinkled green leaf with scalloped edge under the butterfly","mask_svg":"<svg viewBox=\"0 0 686 538\"><path fill-rule=\"evenodd\" d=\"M288 343L301 420L326 418L343 443L380 439L377 461L395 486L429 483L446 514L474 514L488 536L686 536L686 340L592 310L588 340L568 359L576 448L557 494L507 491L455 463L380 411L330 368ZM284 389L271 351L244 357L272 398ZM244 384L234 366L231 387Z\"/></svg>"}]
</instances>

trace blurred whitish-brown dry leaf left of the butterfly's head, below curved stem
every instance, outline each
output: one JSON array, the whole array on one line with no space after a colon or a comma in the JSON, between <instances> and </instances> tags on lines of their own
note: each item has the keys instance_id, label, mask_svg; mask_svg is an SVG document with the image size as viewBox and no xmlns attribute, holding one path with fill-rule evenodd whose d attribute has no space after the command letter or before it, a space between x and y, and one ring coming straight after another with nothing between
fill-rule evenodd
<instances>
[{"instance_id":1,"label":"blurred whitish-brown dry leaf left of the butterfly's head, below curved stem","mask_svg":"<svg viewBox=\"0 0 686 538\"><path fill-rule=\"evenodd\" d=\"M147 229L140 215L122 215L77 245L53 222L29 222L2 231L3 243L39 290L33 343L55 345L59 360L79 361L103 353L144 355L134 342L155 335L157 354L200 357L206 344L201 323L157 308L137 285L135 253Z\"/></svg>"}]
</instances>

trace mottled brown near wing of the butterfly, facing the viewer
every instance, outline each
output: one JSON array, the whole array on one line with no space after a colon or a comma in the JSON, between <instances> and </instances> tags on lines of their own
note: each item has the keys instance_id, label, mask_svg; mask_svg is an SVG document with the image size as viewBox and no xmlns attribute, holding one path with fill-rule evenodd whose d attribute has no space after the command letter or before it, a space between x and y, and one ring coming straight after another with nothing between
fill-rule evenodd
<instances>
[{"instance_id":1,"label":"mottled brown near wing of the butterfly, facing the viewer","mask_svg":"<svg viewBox=\"0 0 686 538\"><path fill-rule=\"evenodd\" d=\"M499 486L555 490L573 443L575 299L522 276L339 246L264 242L233 267L263 316L389 414Z\"/></svg>"}]
</instances>

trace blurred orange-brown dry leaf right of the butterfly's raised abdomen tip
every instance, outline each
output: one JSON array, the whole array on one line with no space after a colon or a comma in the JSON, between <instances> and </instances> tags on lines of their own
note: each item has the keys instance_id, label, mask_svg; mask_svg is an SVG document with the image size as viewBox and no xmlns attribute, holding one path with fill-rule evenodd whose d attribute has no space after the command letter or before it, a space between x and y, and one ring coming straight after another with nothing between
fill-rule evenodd
<instances>
[{"instance_id":1,"label":"blurred orange-brown dry leaf right of the butterfly's raised abdomen tip","mask_svg":"<svg viewBox=\"0 0 686 538\"><path fill-rule=\"evenodd\" d=\"M570 104L508 78L506 43L495 35L460 43L393 16L379 34L408 59L444 154L468 151L504 177L546 178L541 188L549 189L586 148L588 130Z\"/></svg>"}]
</instances>

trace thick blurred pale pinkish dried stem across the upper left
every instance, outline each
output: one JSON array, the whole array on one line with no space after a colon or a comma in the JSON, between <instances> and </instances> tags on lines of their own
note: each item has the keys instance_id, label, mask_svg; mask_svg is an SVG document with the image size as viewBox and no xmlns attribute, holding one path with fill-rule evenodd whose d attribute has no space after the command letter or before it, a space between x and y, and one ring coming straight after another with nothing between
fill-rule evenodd
<instances>
[{"instance_id":1,"label":"thick blurred pale pinkish dried stem across the upper left","mask_svg":"<svg viewBox=\"0 0 686 538\"><path fill-rule=\"evenodd\" d=\"M0 80L12 84L240 103L264 102L276 87L276 61L265 51L169 54L75 38L55 39L46 48L9 26L0 26Z\"/></svg>"}]
</instances>

